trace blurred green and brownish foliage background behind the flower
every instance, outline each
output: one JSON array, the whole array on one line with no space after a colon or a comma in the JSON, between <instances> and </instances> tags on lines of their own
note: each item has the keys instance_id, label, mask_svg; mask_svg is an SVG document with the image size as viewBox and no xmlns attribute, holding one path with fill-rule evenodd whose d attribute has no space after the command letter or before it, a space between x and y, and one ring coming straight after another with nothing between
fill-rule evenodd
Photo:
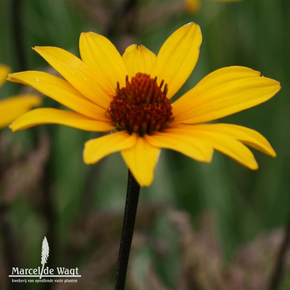
<instances>
[{"instance_id":1,"label":"blurred green and brownish foliage background behind the flower","mask_svg":"<svg viewBox=\"0 0 290 290\"><path fill-rule=\"evenodd\" d=\"M79 56L80 33L94 31L109 35L121 53L137 43L157 54L171 33L194 21L203 35L200 57L178 95L213 70L232 65L280 81L281 91L268 102L222 119L253 128L269 140L277 157L255 151L258 171L217 152L211 164L202 164L162 150L153 184L141 189L127 281L128 289L268 289L290 214L290 1L201 0L194 14L185 11L182 1L128 2L131 6L123 11L122 1L113 0L1 0L0 63L13 72L23 68L13 23L22 37L25 69L51 71L32 46L58 46ZM19 5L17 23L13 19ZM27 88L6 83L0 97L23 90ZM56 104L44 98L43 106ZM32 136L41 134L49 140L49 157L35 165L27 160L39 154L43 145L35 149ZM94 166L83 163L84 142L96 136L56 125L14 134L1 131L1 142L12 156L7 172L13 167L16 173L0 188L4 191L19 176L30 180L1 205L14 267L41 266L46 235L48 266L78 267L82 275L78 283L67 285L9 284L7 236L2 232L1 289L113 288L127 168L119 153ZM287 261L277 289L290 289L289 251Z\"/></svg>"}]
</instances>

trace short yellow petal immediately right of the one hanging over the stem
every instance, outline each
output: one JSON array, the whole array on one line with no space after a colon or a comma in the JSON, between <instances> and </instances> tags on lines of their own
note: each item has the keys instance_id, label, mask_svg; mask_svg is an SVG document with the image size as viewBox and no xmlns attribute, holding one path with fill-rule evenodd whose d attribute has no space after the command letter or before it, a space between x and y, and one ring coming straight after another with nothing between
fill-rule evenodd
<instances>
[{"instance_id":1,"label":"short yellow petal immediately right of the one hanging over the stem","mask_svg":"<svg viewBox=\"0 0 290 290\"><path fill-rule=\"evenodd\" d=\"M210 163L212 159L213 148L210 145L178 130L169 128L164 132L145 135L145 139L154 147L175 150L200 162Z\"/></svg>"}]
</instances>

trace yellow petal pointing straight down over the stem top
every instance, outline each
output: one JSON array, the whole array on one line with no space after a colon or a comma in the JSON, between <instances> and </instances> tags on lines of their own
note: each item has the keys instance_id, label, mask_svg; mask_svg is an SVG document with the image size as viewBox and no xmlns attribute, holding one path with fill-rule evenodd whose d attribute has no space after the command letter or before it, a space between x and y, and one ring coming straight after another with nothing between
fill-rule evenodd
<instances>
[{"instance_id":1,"label":"yellow petal pointing straight down over the stem top","mask_svg":"<svg viewBox=\"0 0 290 290\"><path fill-rule=\"evenodd\" d=\"M153 182L160 149L148 144L143 137L138 137L135 146L122 150L121 154L139 185L149 186Z\"/></svg>"}]
</instances>

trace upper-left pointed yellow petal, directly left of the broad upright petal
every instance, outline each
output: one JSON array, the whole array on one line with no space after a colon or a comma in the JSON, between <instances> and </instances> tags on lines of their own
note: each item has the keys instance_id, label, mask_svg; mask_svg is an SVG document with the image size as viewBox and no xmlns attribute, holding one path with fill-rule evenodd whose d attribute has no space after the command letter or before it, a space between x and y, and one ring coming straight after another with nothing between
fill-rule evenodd
<instances>
[{"instance_id":1,"label":"upper-left pointed yellow petal, directly left of the broad upright petal","mask_svg":"<svg viewBox=\"0 0 290 290\"><path fill-rule=\"evenodd\" d=\"M111 100L110 95L115 92L110 90L105 79L98 75L93 68L90 68L75 55L58 47L36 46L33 49L82 95L95 104L108 108Z\"/></svg>"}]
</instances>

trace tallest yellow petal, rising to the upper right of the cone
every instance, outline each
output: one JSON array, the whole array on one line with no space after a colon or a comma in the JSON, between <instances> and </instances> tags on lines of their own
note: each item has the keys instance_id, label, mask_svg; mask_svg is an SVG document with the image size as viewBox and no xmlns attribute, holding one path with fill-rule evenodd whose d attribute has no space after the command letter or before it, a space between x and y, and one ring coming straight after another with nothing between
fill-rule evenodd
<instances>
[{"instance_id":1,"label":"tallest yellow petal, rising to the upper right of the cone","mask_svg":"<svg viewBox=\"0 0 290 290\"><path fill-rule=\"evenodd\" d=\"M202 35L200 27L191 22L177 29L162 45L151 76L168 85L171 98L188 79L198 59Z\"/></svg>"}]
</instances>

